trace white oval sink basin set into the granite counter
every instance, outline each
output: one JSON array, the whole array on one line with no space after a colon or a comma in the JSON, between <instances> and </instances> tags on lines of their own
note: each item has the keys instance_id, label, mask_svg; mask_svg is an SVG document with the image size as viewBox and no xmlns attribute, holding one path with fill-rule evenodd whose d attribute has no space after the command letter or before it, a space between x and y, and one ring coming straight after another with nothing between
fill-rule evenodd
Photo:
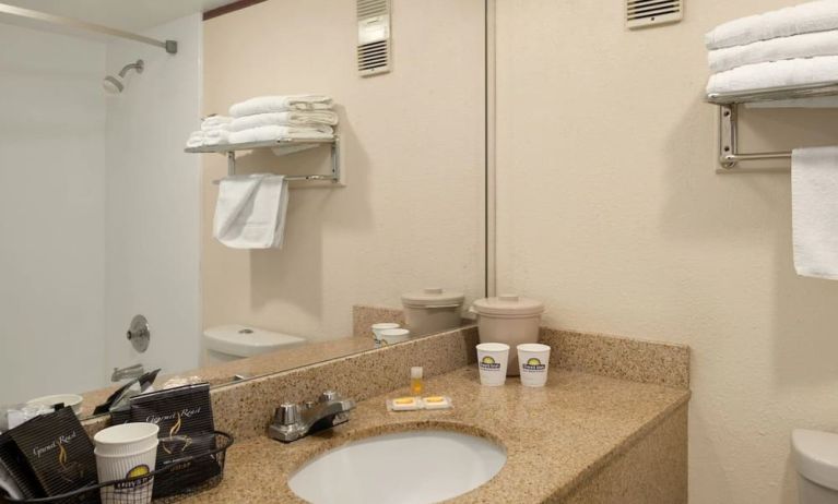
<instances>
[{"instance_id":1,"label":"white oval sink basin set into the granite counter","mask_svg":"<svg viewBox=\"0 0 838 504\"><path fill-rule=\"evenodd\" d=\"M308 461L288 480L314 504L428 504L491 480L506 451L450 431L406 431L345 444Z\"/></svg>"}]
</instances>

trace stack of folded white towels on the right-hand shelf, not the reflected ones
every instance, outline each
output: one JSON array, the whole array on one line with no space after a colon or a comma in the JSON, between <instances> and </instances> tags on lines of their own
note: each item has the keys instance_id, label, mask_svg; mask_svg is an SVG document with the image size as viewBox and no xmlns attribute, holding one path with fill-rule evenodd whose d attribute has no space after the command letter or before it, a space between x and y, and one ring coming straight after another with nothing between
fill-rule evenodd
<instances>
[{"instance_id":1,"label":"stack of folded white towels on the right-hand shelf, not the reflected ones","mask_svg":"<svg viewBox=\"0 0 838 504\"><path fill-rule=\"evenodd\" d=\"M705 44L715 72L708 94L838 81L838 0L734 20L708 33Z\"/></svg>"}]
</instances>

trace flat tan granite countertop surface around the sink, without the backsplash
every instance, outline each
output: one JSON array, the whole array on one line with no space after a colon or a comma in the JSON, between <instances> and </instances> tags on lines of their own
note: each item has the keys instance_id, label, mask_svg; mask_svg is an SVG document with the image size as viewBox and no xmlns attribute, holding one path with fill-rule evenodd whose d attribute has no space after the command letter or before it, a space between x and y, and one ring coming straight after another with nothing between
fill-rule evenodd
<instances>
[{"instance_id":1,"label":"flat tan granite countertop surface around the sink, without the backsplash","mask_svg":"<svg viewBox=\"0 0 838 504\"><path fill-rule=\"evenodd\" d=\"M404 387L357 405L347 423L290 444L261 436L236 443L219 487L182 502L303 502L288 475L319 453L350 440L386 432L442 429L491 439L507 449L507 463L486 484L451 502L543 502L568 494L628 449L689 399L689 391L551 370L544 388L517 377L482 387L475 365L425 382L427 395L448 395L455 408L387 411L385 400Z\"/></svg>"}]
</instances>

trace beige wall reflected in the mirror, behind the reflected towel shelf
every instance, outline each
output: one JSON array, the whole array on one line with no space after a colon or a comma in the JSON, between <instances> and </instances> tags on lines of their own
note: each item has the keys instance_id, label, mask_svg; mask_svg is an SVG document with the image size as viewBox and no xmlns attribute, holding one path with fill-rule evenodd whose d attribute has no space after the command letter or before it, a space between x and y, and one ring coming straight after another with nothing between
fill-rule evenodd
<instances>
[{"instance_id":1,"label":"beige wall reflected in the mirror, behind the reflected towel shelf","mask_svg":"<svg viewBox=\"0 0 838 504\"><path fill-rule=\"evenodd\" d=\"M205 111L255 95L339 104L345 188L292 189L282 251L211 238L219 155L204 156L204 326L246 323L330 339L351 305L400 305L438 285L483 291L483 1L393 0L393 72L355 69L352 0L270 0L205 25ZM328 152L245 158L250 171L328 169Z\"/></svg>"}]
</instances>

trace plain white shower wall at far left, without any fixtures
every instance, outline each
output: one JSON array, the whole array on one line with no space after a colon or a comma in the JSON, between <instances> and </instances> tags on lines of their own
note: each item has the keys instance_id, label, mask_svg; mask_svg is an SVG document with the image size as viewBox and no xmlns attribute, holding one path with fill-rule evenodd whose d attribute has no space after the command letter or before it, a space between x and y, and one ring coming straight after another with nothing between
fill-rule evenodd
<instances>
[{"instance_id":1,"label":"plain white shower wall at far left, without any fixtures","mask_svg":"<svg viewBox=\"0 0 838 504\"><path fill-rule=\"evenodd\" d=\"M102 384L106 47L10 25L0 29L0 47L7 403Z\"/></svg>"}]
</instances>

